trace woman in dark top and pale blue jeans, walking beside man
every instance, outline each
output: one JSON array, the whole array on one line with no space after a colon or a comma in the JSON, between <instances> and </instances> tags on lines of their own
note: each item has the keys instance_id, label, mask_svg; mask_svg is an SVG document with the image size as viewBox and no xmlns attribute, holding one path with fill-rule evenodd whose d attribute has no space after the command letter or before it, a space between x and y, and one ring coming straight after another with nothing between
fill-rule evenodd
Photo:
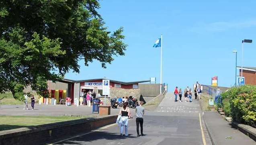
<instances>
[{"instance_id":1,"label":"woman in dark top and pale blue jeans, walking beside man","mask_svg":"<svg viewBox=\"0 0 256 145\"><path fill-rule=\"evenodd\" d=\"M128 137L128 119L131 118L131 112L128 108L128 103L125 102L119 111L121 118L119 120L120 134L123 136L123 128L125 128L125 137Z\"/></svg>"}]
</instances>

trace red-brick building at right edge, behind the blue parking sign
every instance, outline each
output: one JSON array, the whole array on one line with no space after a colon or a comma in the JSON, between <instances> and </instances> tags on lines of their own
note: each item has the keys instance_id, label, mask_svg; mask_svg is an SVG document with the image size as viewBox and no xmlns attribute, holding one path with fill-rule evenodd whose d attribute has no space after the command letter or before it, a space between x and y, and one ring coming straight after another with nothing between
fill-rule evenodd
<instances>
[{"instance_id":1,"label":"red-brick building at right edge, behind the blue parking sign","mask_svg":"<svg viewBox=\"0 0 256 145\"><path fill-rule=\"evenodd\" d=\"M241 76L242 67L237 68L240 70ZM243 76L245 79L245 84L256 85L256 67L243 67Z\"/></svg>"}]
</instances>

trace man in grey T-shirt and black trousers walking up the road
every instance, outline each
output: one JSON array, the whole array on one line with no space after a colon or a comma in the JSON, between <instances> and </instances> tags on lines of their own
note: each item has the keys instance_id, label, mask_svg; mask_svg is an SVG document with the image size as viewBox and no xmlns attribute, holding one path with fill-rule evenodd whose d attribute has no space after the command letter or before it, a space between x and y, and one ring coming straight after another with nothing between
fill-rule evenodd
<instances>
[{"instance_id":1,"label":"man in grey T-shirt and black trousers walking up the road","mask_svg":"<svg viewBox=\"0 0 256 145\"><path fill-rule=\"evenodd\" d=\"M139 101L139 106L135 108L136 112L136 126L137 126L137 137L139 137L139 125L140 125L140 131L141 136L144 136L143 134L143 116L144 116L144 107L142 107L143 102Z\"/></svg>"}]
</instances>

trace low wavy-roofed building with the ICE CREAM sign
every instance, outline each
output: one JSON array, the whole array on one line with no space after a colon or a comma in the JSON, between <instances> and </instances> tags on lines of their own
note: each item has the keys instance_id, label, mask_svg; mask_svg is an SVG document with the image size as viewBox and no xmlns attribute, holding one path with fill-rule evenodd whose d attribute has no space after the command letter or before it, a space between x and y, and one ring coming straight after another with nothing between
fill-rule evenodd
<instances>
[{"instance_id":1,"label":"low wavy-roofed building with the ICE CREAM sign","mask_svg":"<svg viewBox=\"0 0 256 145\"><path fill-rule=\"evenodd\" d=\"M78 103L79 97L83 96L84 92L93 91L96 94L102 96L102 80L100 79L90 79L90 80L69 80L69 79L61 79L57 82L65 83L66 84L66 96L72 98L71 103L76 104ZM136 81L136 82L121 82L116 80L110 80L110 96L108 98L113 97L123 97L123 96L135 96L139 97L140 90L139 90L139 83L143 82L150 82L150 80L145 81ZM49 85L49 84L48 84ZM49 85L53 86L53 85ZM49 90L53 90L49 88ZM158 89L159 90L159 89ZM53 97L53 96L52 96Z\"/></svg>"}]
</instances>

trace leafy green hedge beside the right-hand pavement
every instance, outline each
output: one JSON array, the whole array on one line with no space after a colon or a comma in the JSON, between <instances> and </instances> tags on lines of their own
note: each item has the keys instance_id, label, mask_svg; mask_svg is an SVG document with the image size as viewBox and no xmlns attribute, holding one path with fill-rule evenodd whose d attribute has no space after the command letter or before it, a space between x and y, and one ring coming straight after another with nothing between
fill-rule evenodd
<instances>
[{"instance_id":1,"label":"leafy green hedge beside the right-hand pavement","mask_svg":"<svg viewBox=\"0 0 256 145\"><path fill-rule=\"evenodd\" d=\"M234 121L256 127L256 86L232 87L221 94L221 100Z\"/></svg>"}]
</instances>

